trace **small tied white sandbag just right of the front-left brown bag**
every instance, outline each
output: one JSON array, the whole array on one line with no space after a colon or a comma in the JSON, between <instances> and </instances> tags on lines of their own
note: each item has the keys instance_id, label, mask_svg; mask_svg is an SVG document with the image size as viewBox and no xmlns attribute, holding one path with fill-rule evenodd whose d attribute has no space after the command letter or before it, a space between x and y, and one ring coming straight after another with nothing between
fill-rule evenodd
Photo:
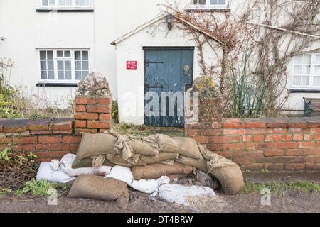
<instances>
[{"instance_id":1,"label":"small tied white sandbag just right of the front-left brown bag","mask_svg":"<svg viewBox=\"0 0 320 227\"><path fill-rule=\"evenodd\" d=\"M136 189L139 192L144 192L146 194L152 194L157 192L161 184L169 184L169 177L160 177L159 179L140 179L134 180L132 184L129 184L130 187Z\"/></svg>"}]
</instances>

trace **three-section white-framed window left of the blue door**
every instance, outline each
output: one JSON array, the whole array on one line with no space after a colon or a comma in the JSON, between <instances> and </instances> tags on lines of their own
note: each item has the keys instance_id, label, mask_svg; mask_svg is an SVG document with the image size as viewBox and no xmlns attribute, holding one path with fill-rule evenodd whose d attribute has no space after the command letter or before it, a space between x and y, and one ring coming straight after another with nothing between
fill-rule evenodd
<instances>
[{"instance_id":1,"label":"three-section white-framed window left of the blue door","mask_svg":"<svg viewBox=\"0 0 320 227\"><path fill-rule=\"evenodd\" d=\"M41 82L79 82L90 72L89 50L38 50Z\"/></svg>"}]
</instances>

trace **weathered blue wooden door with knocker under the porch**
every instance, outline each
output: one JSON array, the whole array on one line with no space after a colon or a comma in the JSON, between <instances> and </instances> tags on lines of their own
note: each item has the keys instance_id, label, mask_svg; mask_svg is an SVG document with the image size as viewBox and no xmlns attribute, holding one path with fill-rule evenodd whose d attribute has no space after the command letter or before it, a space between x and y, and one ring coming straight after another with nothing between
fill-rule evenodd
<instances>
[{"instance_id":1,"label":"weathered blue wooden door with knocker under the porch","mask_svg":"<svg viewBox=\"0 0 320 227\"><path fill-rule=\"evenodd\" d=\"M144 48L144 94L155 92L159 97L159 116L146 116L145 113L144 123L146 126L184 126L183 92L192 86L193 52L194 48ZM166 105L161 105L161 92L162 94L166 94L163 92L171 92L175 95L182 94L182 105L178 99L169 101L169 97L165 100ZM164 97L162 99L162 103L164 103ZM144 104L146 105L150 100L146 100ZM172 105L174 105L174 115L172 114ZM171 112L169 112L170 108ZM152 108L150 110L153 111Z\"/></svg>"}]
</instances>

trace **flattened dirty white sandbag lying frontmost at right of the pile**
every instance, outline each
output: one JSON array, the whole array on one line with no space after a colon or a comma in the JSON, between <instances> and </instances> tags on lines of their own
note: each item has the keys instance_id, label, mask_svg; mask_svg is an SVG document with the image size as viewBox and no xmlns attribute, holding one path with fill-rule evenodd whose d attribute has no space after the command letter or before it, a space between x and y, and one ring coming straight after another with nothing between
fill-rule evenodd
<instances>
[{"instance_id":1,"label":"flattened dirty white sandbag lying frontmost at right of the pile","mask_svg":"<svg viewBox=\"0 0 320 227\"><path fill-rule=\"evenodd\" d=\"M185 187L180 184L164 184L159 187L159 196L161 199L184 206L189 206L188 197L204 195L215 196L215 192L213 192L213 189L210 187Z\"/></svg>"}]
</instances>

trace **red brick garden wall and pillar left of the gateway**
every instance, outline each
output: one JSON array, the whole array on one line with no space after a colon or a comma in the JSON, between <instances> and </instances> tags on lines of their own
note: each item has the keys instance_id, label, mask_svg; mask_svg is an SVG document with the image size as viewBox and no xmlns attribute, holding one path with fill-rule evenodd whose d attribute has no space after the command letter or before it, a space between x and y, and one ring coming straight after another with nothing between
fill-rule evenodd
<instances>
[{"instance_id":1,"label":"red brick garden wall and pillar left of the gateway","mask_svg":"<svg viewBox=\"0 0 320 227\"><path fill-rule=\"evenodd\" d=\"M110 128L111 98L76 98L75 119L0 119L0 150L33 152L38 162L77 153L81 132L98 133Z\"/></svg>"}]
</instances>

